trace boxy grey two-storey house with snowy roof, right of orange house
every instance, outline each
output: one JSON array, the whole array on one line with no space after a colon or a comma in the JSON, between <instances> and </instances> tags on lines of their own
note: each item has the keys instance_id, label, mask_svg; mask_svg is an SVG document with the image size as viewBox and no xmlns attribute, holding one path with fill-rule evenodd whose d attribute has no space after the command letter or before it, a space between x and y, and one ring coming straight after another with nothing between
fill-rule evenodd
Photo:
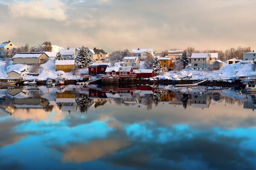
<instances>
[{"instance_id":1,"label":"boxy grey two-storey house with snowy roof, right of orange house","mask_svg":"<svg viewBox=\"0 0 256 170\"><path fill-rule=\"evenodd\" d=\"M210 65L209 53L193 53L191 56L192 70L207 70Z\"/></svg>"}]
</instances>

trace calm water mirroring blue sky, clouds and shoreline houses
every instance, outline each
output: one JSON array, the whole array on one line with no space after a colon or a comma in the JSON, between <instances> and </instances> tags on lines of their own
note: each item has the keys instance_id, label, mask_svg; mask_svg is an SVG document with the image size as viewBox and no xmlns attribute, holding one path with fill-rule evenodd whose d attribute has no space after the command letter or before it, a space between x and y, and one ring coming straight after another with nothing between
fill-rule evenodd
<instances>
[{"instance_id":1,"label":"calm water mirroring blue sky, clouds and shoreline houses","mask_svg":"<svg viewBox=\"0 0 256 170\"><path fill-rule=\"evenodd\" d=\"M199 91L0 89L0 169L256 169L254 96Z\"/></svg>"}]
</instances>

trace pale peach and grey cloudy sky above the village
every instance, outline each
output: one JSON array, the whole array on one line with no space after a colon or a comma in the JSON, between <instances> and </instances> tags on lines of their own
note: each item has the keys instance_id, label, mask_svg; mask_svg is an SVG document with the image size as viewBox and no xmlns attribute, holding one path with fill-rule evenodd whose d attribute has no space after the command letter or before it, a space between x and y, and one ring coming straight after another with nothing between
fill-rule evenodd
<instances>
[{"instance_id":1,"label":"pale peach and grey cloudy sky above the village","mask_svg":"<svg viewBox=\"0 0 256 170\"><path fill-rule=\"evenodd\" d=\"M0 42L107 52L256 47L255 0L0 0Z\"/></svg>"}]
</instances>

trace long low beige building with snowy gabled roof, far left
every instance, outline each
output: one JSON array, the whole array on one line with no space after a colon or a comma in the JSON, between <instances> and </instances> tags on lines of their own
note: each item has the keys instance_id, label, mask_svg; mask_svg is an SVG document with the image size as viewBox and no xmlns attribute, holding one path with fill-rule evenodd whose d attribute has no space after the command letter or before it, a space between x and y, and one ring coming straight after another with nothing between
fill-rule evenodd
<instances>
[{"instance_id":1,"label":"long low beige building with snowy gabled roof, far left","mask_svg":"<svg viewBox=\"0 0 256 170\"><path fill-rule=\"evenodd\" d=\"M44 52L18 53L12 57L13 64L43 64L48 61L48 56Z\"/></svg>"}]
</instances>

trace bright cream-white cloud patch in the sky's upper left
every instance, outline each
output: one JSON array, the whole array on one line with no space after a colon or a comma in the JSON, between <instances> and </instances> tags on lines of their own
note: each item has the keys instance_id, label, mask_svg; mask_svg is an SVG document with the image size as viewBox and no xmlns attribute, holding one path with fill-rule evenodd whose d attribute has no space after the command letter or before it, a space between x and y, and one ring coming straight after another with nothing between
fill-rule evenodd
<instances>
[{"instance_id":1,"label":"bright cream-white cloud patch in the sky's upper left","mask_svg":"<svg viewBox=\"0 0 256 170\"><path fill-rule=\"evenodd\" d=\"M67 19L66 6L59 0L29 0L11 3L9 10L13 17L29 17L34 19Z\"/></svg>"}]
</instances>

